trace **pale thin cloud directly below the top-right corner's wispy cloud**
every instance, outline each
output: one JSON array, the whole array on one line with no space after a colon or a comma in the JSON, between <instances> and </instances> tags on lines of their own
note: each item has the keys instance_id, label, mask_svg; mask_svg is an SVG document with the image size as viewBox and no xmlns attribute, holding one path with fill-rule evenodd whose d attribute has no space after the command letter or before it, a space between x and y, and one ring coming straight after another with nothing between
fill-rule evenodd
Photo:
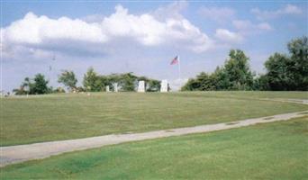
<instances>
[{"instance_id":1,"label":"pale thin cloud directly below the top-right corner's wispy cloud","mask_svg":"<svg viewBox=\"0 0 308 180\"><path fill-rule=\"evenodd\" d=\"M241 34L258 33L261 31L272 31L274 30L269 23L251 23L249 20L234 20L232 21L233 26L240 31Z\"/></svg>"}]
</instances>

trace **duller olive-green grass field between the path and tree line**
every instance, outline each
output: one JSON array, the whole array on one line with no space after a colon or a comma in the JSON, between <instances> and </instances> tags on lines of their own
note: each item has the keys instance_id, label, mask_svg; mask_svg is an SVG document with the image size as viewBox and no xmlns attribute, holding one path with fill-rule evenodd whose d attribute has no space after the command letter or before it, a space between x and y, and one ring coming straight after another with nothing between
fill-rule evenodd
<instances>
[{"instance_id":1,"label":"duller olive-green grass field between the path and tree line","mask_svg":"<svg viewBox=\"0 0 308 180\"><path fill-rule=\"evenodd\" d=\"M50 94L2 98L1 146L180 128L307 110L307 92Z\"/></svg>"}]
</instances>

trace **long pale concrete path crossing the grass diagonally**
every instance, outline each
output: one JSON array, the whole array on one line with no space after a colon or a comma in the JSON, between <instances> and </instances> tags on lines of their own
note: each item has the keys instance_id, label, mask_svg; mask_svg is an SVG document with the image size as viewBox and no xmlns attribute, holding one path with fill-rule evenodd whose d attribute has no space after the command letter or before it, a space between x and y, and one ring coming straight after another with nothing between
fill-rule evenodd
<instances>
[{"instance_id":1,"label":"long pale concrete path crossing the grass diagonally","mask_svg":"<svg viewBox=\"0 0 308 180\"><path fill-rule=\"evenodd\" d=\"M210 132L214 130L229 130L257 123L267 123L271 121L286 121L292 118L308 116L308 111L284 113L262 118L254 118L242 121L231 121L226 123L202 125L188 128L178 128L172 130L155 130L142 133L105 135L85 139L69 139L34 143L28 145L17 145L0 148L0 166L20 163L23 161L50 157L64 152L83 150L87 148L98 148L107 145L119 144L144 139L158 139L170 136L179 136L192 133Z\"/></svg>"}]
</instances>

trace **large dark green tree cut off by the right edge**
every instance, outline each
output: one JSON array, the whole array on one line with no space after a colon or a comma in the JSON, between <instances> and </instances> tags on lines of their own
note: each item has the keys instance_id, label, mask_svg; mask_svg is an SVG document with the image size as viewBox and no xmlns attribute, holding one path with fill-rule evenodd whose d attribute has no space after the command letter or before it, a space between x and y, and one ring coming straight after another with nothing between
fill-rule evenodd
<instances>
[{"instance_id":1,"label":"large dark green tree cut off by the right edge","mask_svg":"<svg viewBox=\"0 0 308 180\"><path fill-rule=\"evenodd\" d=\"M275 53L265 62L267 73L263 83L268 90L308 90L308 38L291 40L290 55Z\"/></svg>"}]
</instances>

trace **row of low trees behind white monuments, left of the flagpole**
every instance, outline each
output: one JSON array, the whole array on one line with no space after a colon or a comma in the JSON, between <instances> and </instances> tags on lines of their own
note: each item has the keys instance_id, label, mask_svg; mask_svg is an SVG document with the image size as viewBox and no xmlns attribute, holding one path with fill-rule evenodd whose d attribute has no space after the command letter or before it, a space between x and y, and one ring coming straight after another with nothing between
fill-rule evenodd
<instances>
[{"instance_id":1,"label":"row of low trees behind white monuments, left of the flagpole","mask_svg":"<svg viewBox=\"0 0 308 180\"><path fill-rule=\"evenodd\" d=\"M58 82L67 87L69 92L101 92L105 91L109 85L113 91L113 85L118 85L119 91L136 91L140 80L145 81L147 92L157 92L160 89L160 81L147 76L136 76L133 73L99 75L93 67L89 67L84 75L82 84L77 86L77 77L73 71L62 70L58 77ZM22 85L13 90L14 94L51 94L65 93L62 87L54 89L48 86L49 80L42 74L37 74L34 78L25 77Z\"/></svg>"}]
</instances>

